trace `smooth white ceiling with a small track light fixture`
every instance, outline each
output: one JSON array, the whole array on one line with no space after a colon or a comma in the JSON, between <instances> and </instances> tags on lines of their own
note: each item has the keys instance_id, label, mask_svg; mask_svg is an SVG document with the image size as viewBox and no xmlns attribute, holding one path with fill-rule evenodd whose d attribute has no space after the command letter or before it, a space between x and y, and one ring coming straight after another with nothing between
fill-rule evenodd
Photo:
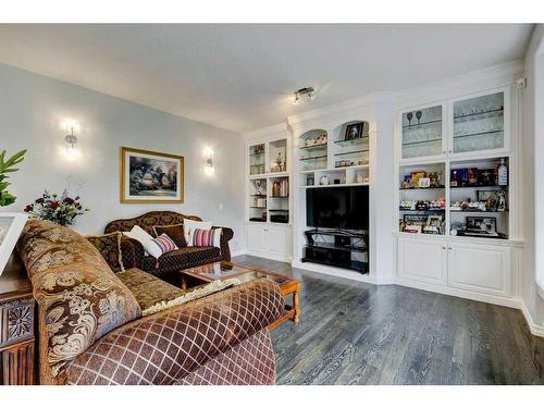
<instances>
[{"instance_id":1,"label":"smooth white ceiling with a small track light fixture","mask_svg":"<svg viewBox=\"0 0 544 408\"><path fill-rule=\"evenodd\" d=\"M0 24L0 62L246 132L521 59L531 24ZM313 86L318 99L293 106Z\"/></svg>"}]
</instances>

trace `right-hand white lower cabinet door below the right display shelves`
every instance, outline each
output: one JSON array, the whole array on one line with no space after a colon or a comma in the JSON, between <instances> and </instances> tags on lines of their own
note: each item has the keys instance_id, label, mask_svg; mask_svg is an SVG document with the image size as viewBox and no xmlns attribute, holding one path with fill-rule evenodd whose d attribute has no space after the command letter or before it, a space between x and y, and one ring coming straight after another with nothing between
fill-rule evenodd
<instances>
[{"instance_id":1,"label":"right-hand white lower cabinet door below the right display shelves","mask_svg":"<svg viewBox=\"0 0 544 408\"><path fill-rule=\"evenodd\" d=\"M449 286L490 295L510 295L510 248L450 244Z\"/></svg>"}]
</instances>

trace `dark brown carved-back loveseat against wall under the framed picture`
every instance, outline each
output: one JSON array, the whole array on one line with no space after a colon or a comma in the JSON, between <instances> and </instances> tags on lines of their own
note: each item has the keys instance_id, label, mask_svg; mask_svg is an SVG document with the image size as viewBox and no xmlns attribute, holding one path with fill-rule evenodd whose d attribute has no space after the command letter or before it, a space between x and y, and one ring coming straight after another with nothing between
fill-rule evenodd
<instances>
[{"instance_id":1,"label":"dark brown carved-back loveseat against wall under the framed picture","mask_svg":"<svg viewBox=\"0 0 544 408\"><path fill-rule=\"evenodd\" d=\"M134 225L138 225L150 235L154 235L153 226L183 224L184 220L202 221L196 215L184 215L174 211L151 211L143 215L115 220L110 222L104 232L128 232ZM233 238L234 232L224 226L213 226L222 228L221 248L215 247L181 247L172 252L164 254L158 260L151 256L145 256L144 247L135 239L123 237L122 252L123 262L134 268L141 269L156 276L163 276L180 269L198 267L206 263L230 261L231 249L228 242Z\"/></svg>"}]
</instances>

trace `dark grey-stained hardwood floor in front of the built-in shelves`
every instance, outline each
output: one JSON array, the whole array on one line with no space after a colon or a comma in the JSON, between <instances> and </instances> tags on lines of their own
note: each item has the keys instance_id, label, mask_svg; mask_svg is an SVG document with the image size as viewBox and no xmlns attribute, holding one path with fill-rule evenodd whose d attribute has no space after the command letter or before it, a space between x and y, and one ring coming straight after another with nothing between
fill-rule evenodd
<instances>
[{"instance_id":1,"label":"dark grey-stained hardwood floor in front of the built-in shelves","mask_svg":"<svg viewBox=\"0 0 544 408\"><path fill-rule=\"evenodd\" d=\"M544 338L519 310L234 261L302 280L300 323L272 332L277 384L544 384Z\"/></svg>"}]
</instances>

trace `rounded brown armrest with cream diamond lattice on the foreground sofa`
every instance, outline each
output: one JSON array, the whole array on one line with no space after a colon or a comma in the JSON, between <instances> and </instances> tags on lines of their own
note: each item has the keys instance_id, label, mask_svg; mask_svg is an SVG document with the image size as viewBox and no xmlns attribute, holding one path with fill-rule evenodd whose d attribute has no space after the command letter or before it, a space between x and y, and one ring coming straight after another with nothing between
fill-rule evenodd
<instances>
[{"instance_id":1,"label":"rounded brown armrest with cream diamond lattice on the foreground sofa","mask_svg":"<svg viewBox=\"0 0 544 408\"><path fill-rule=\"evenodd\" d=\"M255 280L129 322L66 367L69 384L174 384L282 316L280 286Z\"/></svg>"}]
</instances>

